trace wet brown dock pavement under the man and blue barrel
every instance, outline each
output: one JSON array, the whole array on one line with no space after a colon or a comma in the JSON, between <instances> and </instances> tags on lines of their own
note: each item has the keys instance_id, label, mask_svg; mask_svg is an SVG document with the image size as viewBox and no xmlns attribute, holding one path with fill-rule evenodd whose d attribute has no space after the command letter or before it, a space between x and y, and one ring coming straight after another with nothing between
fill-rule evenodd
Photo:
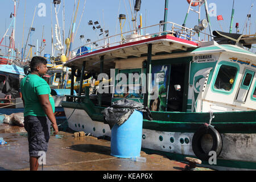
<instances>
[{"instance_id":1,"label":"wet brown dock pavement under the man and blue barrel","mask_svg":"<svg viewBox=\"0 0 256 182\"><path fill-rule=\"evenodd\" d=\"M0 123L0 171L29 170L28 141L24 127ZM146 154L146 162L116 158L110 155L110 140L92 136L73 137L72 131L60 131L49 139L44 171L181 171L185 163L166 156ZM42 166L39 166L39 171Z\"/></svg>"}]
</instances>

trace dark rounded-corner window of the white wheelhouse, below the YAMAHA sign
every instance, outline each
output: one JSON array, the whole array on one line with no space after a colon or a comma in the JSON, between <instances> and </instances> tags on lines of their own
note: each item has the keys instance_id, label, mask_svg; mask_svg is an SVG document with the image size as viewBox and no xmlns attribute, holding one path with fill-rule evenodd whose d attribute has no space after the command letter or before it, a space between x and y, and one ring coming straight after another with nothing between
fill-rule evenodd
<instances>
[{"instance_id":1,"label":"dark rounded-corner window of the white wheelhouse, below the YAMAHA sign","mask_svg":"<svg viewBox=\"0 0 256 182\"><path fill-rule=\"evenodd\" d=\"M234 80L237 75L237 68L230 65L221 65L216 81L214 83L214 89L223 90L229 92L232 90Z\"/></svg>"}]
</instances>

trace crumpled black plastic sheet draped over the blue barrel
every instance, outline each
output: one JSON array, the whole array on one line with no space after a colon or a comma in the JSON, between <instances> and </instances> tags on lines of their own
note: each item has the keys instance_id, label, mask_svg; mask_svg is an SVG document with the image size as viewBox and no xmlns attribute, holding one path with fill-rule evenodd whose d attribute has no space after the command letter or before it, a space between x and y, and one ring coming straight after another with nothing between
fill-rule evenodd
<instances>
[{"instance_id":1,"label":"crumpled black plastic sheet draped over the blue barrel","mask_svg":"<svg viewBox=\"0 0 256 182\"><path fill-rule=\"evenodd\" d=\"M123 123L129 119L130 115L133 114L134 110L141 111L143 113L143 118L152 121L152 115L147 107L143 104L133 101L122 99L115 101L112 107L107 107L102 111L105 117L106 123L109 124L110 129L117 123L121 126Z\"/></svg>"}]
</instances>

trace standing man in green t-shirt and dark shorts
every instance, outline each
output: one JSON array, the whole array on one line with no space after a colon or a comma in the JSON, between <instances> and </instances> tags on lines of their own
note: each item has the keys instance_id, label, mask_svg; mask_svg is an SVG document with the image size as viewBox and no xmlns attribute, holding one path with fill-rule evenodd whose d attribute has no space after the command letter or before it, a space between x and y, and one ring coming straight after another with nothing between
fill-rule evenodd
<instances>
[{"instance_id":1,"label":"standing man in green t-shirt and dark shorts","mask_svg":"<svg viewBox=\"0 0 256 182\"><path fill-rule=\"evenodd\" d=\"M20 82L24 104L24 127L28 133L30 170L38 169L39 152L48 150L50 127L54 134L59 132L54 115L55 103L51 89L42 78L48 70L47 60L35 56L30 63L31 73Z\"/></svg>"}]
</instances>

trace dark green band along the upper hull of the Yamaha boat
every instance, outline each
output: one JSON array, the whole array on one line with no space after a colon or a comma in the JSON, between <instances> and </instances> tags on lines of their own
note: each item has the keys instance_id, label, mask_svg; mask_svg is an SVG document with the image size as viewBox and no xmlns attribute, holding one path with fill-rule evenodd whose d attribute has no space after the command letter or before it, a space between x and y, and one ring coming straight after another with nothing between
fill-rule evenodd
<instances>
[{"instance_id":1,"label":"dark green band along the upper hull of the Yamaha boat","mask_svg":"<svg viewBox=\"0 0 256 182\"><path fill-rule=\"evenodd\" d=\"M62 102L63 107L82 109L94 121L104 122L101 111L105 107L94 106L83 97L82 102ZM143 120L143 129L195 133L204 123L209 123L209 113L151 112L153 121ZM212 125L219 133L256 133L256 111L213 113ZM245 117L246 115L246 117Z\"/></svg>"}]
</instances>

